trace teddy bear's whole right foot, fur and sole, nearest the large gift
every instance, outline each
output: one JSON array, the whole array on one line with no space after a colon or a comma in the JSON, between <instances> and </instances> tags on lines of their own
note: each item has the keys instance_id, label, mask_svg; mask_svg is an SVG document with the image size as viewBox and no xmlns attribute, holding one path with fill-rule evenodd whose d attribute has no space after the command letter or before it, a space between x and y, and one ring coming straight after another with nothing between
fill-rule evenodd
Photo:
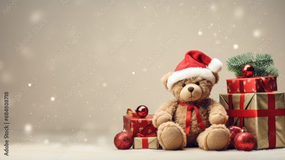
<instances>
[{"instance_id":1,"label":"teddy bear's whole right foot, fur and sole, nearest the large gift","mask_svg":"<svg viewBox=\"0 0 285 160\"><path fill-rule=\"evenodd\" d=\"M225 125L211 125L197 137L199 147L205 150L225 150L230 142L230 133Z\"/></svg>"}]
</instances>

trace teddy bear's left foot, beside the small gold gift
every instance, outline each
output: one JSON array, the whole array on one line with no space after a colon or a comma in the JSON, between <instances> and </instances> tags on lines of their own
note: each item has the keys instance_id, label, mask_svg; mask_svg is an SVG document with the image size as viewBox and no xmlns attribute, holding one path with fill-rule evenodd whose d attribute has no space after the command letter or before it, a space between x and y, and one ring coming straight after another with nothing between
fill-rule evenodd
<instances>
[{"instance_id":1,"label":"teddy bear's left foot, beside the small gold gift","mask_svg":"<svg viewBox=\"0 0 285 160\"><path fill-rule=\"evenodd\" d=\"M166 122L158 127L157 138L164 150L177 150L186 146L186 134L174 122Z\"/></svg>"}]
</instances>

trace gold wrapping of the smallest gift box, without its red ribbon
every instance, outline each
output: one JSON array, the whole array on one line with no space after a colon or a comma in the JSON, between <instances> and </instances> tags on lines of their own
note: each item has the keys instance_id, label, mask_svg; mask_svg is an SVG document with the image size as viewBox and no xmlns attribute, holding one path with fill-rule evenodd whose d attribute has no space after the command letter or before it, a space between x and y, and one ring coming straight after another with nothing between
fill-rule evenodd
<instances>
[{"instance_id":1,"label":"gold wrapping of the smallest gift box, without its red ribbon","mask_svg":"<svg viewBox=\"0 0 285 160\"><path fill-rule=\"evenodd\" d=\"M145 137L134 137L133 149L143 149L143 138ZM159 143L157 137L147 137L148 149L158 149Z\"/></svg>"}]
</instances>

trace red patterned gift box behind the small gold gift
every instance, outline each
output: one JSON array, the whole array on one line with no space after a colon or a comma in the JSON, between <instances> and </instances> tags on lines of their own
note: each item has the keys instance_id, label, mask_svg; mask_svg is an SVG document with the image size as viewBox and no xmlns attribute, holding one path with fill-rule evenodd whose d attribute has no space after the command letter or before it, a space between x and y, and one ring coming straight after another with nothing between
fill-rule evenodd
<instances>
[{"instance_id":1,"label":"red patterned gift box behind the small gold gift","mask_svg":"<svg viewBox=\"0 0 285 160\"><path fill-rule=\"evenodd\" d=\"M131 117L124 115L124 128L131 136L150 135L156 133L157 128L152 125L152 118L154 115L147 115L144 118Z\"/></svg>"}]
</instances>

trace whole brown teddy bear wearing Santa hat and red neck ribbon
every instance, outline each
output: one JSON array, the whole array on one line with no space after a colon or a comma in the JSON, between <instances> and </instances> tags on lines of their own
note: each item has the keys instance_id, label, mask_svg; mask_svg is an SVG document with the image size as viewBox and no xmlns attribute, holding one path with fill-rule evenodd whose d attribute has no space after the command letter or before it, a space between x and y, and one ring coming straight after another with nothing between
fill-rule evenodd
<instances>
[{"instance_id":1,"label":"whole brown teddy bear wearing Santa hat and red neck ribbon","mask_svg":"<svg viewBox=\"0 0 285 160\"><path fill-rule=\"evenodd\" d=\"M207 67L206 67L207 66ZM161 79L174 99L162 104L152 123L158 128L162 149L177 150L199 146L204 150L225 150L230 133L222 105L209 98L219 81L222 63L200 51L188 51L175 71Z\"/></svg>"}]
</instances>

